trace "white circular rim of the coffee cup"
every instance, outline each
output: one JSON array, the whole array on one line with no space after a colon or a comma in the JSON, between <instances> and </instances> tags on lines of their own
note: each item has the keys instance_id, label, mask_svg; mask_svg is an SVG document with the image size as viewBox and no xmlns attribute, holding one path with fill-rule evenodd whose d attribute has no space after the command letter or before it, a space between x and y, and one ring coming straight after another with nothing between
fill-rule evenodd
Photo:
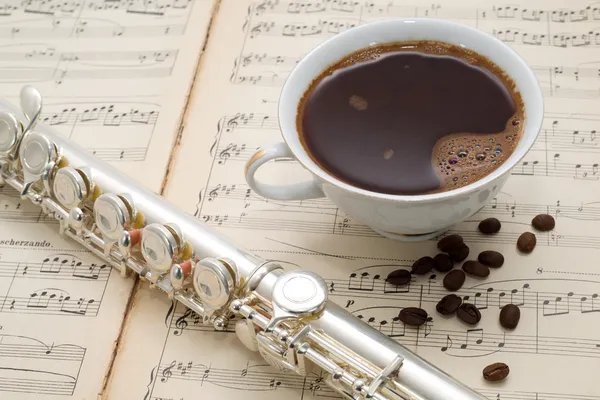
<instances>
[{"instance_id":1,"label":"white circular rim of the coffee cup","mask_svg":"<svg viewBox=\"0 0 600 400\"><path fill-rule=\"evenodd\" d=\"M533 86L535 87L535 92L536 92L533 94L533 97L537 98L533 102L538 101L540 103L540 111L539 111L538 115L528 115L527 114L527 104L525 104L525 113L526 113L525 118L526 118L528 124L533 124L530 129L535 130L535 133L531 134L533 137L531 137L529 144L524 147L521 147L519 149L519 151L517 151L517 149L515 149L515 151L511 154L511 156L499 168L496 168L494 171L487 174L485 177L483 177L469 185L466 185L466 186L463 186L463 187L460 187L457 189L447 190L444 192L430 193L430 194L417 194L417 195L403 195L403 194L398 195L398 194L387 194L387 193L374 192L374 191L362 189L360 187L346 183L340 179L337 179L335 176L331 175L329 172L327 172L326 170L322 169L319 165L317 165L310 158L310 156L308 156L308 154L303 146L301 146L301 152L306 157L299 157L297 150L294 148L294 146L291 146L288 141L287 136L291 133L288 133L286 135L286 133L284 132L281 116L283 114L283 108L285 107L284 100L288 96L290 87L294 84L296 76L302 70L303 65L308 63L309 59L316 57L322 51L323 48L332 46L332 43L343 39L346 35L349 35L350 32L355 32L357 30L360 31L360 30L376 29L378 26L395 25L395 24L402 24L402 23L437 24L437 25L445 25L449 28L459 28L464 31L468 31L469 34L471 34L471 35L483 37L487 41L494 42L497 45L503 47L505 50L507 50L508 53L511 54L511 56L513 58L513 62L519 64L520 68L526 73L527 78L533 83ZM452 44L452 41L447 41L447 43ZM331 63L331 64L333 64L333 63ZM325 70L325 69L326 69L326 67L323 68L322 70ZM308 89L308 86L305 88L305 90L307 90L307 89ZM518 85L517 85L517 90L519 90ZM296 107L297 107L297 104L296 104ZM294 118L296 116L297 116L297 113L294 114ZM485 186L485 185L489 184L490 182L500 178L504 174L509 173L529 153L529 151L533 147L534 143L536 142L536 140L539 137L539 134L541 132L541 126L542 126L543 119L544 119L544 97L543 97L543 91L542 91L541 85L540 85L539 80L537 79L535 73L529 66L529 64L523 59L523 57L519 53L517 53L513 48L508 46L503 41L490 35L487 32L481 31L479 29L473 28L473 27L465 25L465 24L448 21L448 20L443 20L443 19L438 19L438 18L423 18L423 17L420 17L420 18L389 18L389 19L385 19L385 20L381 20L381 21L369 22L369 23L366 23L363 25L356 26L347 31L336 34L336 35L330 37L329 39L324 40L317 46L313 47L296 64L296 66L290 72L290 74L286 78L286 80L281 88L280 95L279 95L279 101L278 101L278 124L279 124L279 131L280 131L281 137L282 137L283 141L286 143L286 145L290 148L290 151L294 155L295 160L298 161L305 169L307 169L309 172L316 175L323 181L325 181L333 186L336 186L338 188L349 191L349 192L353 192L356 194L360 194L362 196L366 196L366 197L370 197L370 198L374 198L374 199L378 199L378 200L388 200L388 201L394 201L394 202L408 202L408 203L434 202L434 201L454 198L456 196L469 195L469 194L479 190L482 186ZM296 126L296 122L294 121L294 127L295 126ZM296 128L293 129L293 134L299 135L299 132ZM521 138L521 140L523 140L524 138L525 138L525 136L523 136Z\"/></svg>"}]
</instances>

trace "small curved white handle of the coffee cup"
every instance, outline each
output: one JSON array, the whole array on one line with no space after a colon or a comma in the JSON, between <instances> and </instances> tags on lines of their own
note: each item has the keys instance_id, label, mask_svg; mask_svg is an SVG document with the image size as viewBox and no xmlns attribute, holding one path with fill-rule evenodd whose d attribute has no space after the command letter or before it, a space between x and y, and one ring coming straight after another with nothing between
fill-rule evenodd
<instances>
[{"instance_id":1,"label":"small curved white handle of the coffee cup","mask_svg":"<svg viewBox=\"0 0 600 400\"><path fill-rule=\"evenodd\" d=\"M269 185L254 179L254 174L261 165L277 158L295 159L288 145L279 142L266 149L258 149L246 163L244 169L246 182L255 193L271 200L307 200L325 197L325 194L314 180L291 185Z\"/></svg>"}]
</instances>

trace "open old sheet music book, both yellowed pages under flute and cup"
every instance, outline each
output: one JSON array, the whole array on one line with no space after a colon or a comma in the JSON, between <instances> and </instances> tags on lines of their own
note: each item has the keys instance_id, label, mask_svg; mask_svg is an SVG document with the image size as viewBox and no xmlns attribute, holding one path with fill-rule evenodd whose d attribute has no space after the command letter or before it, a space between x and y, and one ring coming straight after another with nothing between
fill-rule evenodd
<instances>
[{"instance_id":1,"label":"open old sheet music book, both yellowed pages under flute and cup","mask_svg":"<svg viewBox=\"0 0 600 400\"><path fill-rule=\"evenodd\" d=\"M46 121L98 156L260 256L318 272L334 301L491 400L600 400L598 3L31 0L2 10L4 92L38 85ZM453 229L471 254L493 249L506 258L459 291L482 313L474 329L436 314L440 277L384 290L389 272L435 255L435 241L391 242L327 200L267 201L244 182L248 157L281 140L279 91L302 55L390 17L491 33L530 63L544 89L533 150L501 195ZM305 177L293 163L265 169L274 181ZM337 397L321 377L279 374L231 331L214 332L147 284L121 280L14 193L0 201L0 398ZM520 255L516 239L538 213L557 226ZM476 229L487 216L503 223L493 239ZM521 306L515 331L498 324L506 303ZM403 326L396 317L410 305L433 320ZM481 370L496 361L511 373L490 384Z\"/></svg>"}]
</instances>

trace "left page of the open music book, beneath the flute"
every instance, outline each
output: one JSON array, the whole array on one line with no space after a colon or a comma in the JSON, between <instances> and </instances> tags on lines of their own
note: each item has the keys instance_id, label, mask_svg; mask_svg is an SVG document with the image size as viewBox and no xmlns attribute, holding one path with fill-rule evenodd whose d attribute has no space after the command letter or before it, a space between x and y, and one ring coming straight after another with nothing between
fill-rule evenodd
<instances>
[{"instance_id":1,"label":"left page of the open music book, beneath the flute","mask_svg":"<svg viewBox=\"0 0 600 400\"><path fill-rule=\"evenodd\" d=\"M44 98L42 122L158 192L215 1L2 3L0 89ZM0 191L0 398L94 400L134 279Z\"/></svg>"}]
</instances>

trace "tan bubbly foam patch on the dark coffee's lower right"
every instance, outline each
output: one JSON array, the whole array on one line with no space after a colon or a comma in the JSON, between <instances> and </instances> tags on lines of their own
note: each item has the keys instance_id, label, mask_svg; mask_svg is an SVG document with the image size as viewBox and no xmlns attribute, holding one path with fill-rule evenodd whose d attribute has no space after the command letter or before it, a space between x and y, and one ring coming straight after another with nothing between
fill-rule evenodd
<instances>
[{"instance_id":1,"label":"tan bubbly foam patch on the dark coffee's lower right","mask_svg":"<svg viewBox=\"0 0 600 400\"><path fill-rule=\"evenodd\" d=\"M440 177L437 191L466 186L500 167L518 144L521 128L522 116L515 115L500 133L457 133L440 138L433 149Z\"/></svg>"}]
</instances>

